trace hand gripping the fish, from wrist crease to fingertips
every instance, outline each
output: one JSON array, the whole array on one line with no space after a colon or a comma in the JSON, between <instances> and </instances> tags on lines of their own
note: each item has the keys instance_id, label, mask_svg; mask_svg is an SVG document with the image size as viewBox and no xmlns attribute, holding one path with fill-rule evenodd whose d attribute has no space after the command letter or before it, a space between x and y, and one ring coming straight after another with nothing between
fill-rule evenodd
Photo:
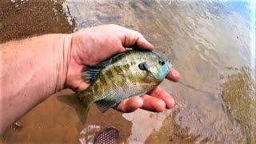
<instances>
[{"instance_id":1,"label":"hand gripping the fish, from wrist crease to fingertips","mask_svg":"<svg viewBox=\"0 0 256 144\"><path fill-rule=\"evenodd\" d=\"M70 60L66 76L66 86L73 90L85 90L90 83L82 79L83 66L93 66L121 53L126 47L137 47L141 50L153 50L142 34L117 25L95 26L79 30L72 35ZM167 79L177 82L179 74L171 69ZM174 107L174 98L162 88L157 87L141 97L134 96L120 102L117 110L132 112L138 108L160 112Z\"/></svg>"}]
</instances>

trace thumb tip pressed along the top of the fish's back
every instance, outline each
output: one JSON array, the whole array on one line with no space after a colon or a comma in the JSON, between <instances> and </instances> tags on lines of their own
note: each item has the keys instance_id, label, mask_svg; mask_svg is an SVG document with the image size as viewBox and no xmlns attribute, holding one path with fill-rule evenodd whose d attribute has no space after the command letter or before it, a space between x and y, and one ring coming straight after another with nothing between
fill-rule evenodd
<instances>
[{"instance_id":1,"label":"thumb tip pressed along the top of the fish's back","mask_svg":"<svg viewBox=\"0 0 256 144\"><path fill-rule=\"evenodd\" d=\"M144 38L138 31L126 29L124 34L124 38L122 38L122 46L138 48L140 50L154 49L154 46L146 41L146 38Z\"/></svg>"}]
</instances>

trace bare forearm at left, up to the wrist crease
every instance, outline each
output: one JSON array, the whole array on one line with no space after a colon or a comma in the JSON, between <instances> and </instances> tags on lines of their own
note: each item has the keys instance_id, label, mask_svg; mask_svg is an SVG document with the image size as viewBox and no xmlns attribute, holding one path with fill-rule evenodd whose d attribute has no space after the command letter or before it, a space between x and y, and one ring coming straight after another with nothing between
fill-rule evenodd
<instances>
[{"instance_id":1,"label":"bare forearm at left, up to the wrist crease","mask_svg":"<svg viewBox=\"0 0 256 144\"><path fill-rule=\"evenodd\" d=\"M0 45L0 135L66 82L71 35L48 34Z\"/></svg>"}]
</instances>

